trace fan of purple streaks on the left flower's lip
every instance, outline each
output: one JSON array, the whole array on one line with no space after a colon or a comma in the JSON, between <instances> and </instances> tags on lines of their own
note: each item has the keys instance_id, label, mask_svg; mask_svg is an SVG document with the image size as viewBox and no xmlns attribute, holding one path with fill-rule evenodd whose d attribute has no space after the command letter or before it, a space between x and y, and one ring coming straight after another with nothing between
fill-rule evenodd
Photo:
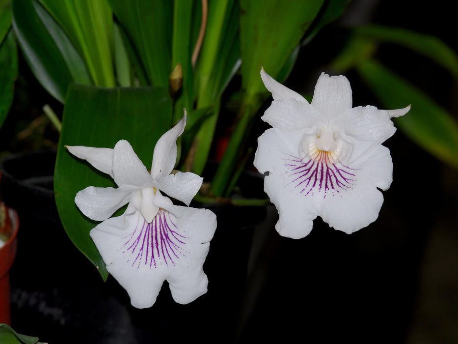
<instances>
[{"instance_id":1,"label":"fan of purple streaks on the left flower's lip","mask_svg":"<svg viewBox=\"0 0 458 344\"><path fill-rule=\"evenodd\" d=\"M160 209L151 223L143 220L137 224L134 232L124 237L123 254L129 256L132 266L137 269L140 264L157 267L157 264L175 265L176 259L186 257L186 236L178 233L178 227L173 223L170 213Z\"/></svg>"}]
</instances>

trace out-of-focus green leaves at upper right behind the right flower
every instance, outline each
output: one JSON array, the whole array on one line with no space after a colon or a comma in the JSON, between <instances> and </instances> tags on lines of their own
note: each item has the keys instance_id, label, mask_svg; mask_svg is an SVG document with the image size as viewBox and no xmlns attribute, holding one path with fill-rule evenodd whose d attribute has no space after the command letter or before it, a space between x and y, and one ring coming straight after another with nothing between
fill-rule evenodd
<instances>
[{"instance_id":1,"label":"out-of-focus green leaves at upper right behind the right flower","mask_svg":"<svg viewBox=\"0 0 458 344\"><path fill-rule=\"evenodd\" d=\"M335 57L332 67L340 73L354 68L386 109L403 108L409 105L405 102L409 102L411 110L408 115L394 120L396 126L426 151L458 168L456 116L375 59L377 47L387 43L427 57L431 63L445 68L458 82L458 56L440 39L407 29L375 25L353 29L349 42ZM399 54L398 58L403 57Z\"/></svg>"}]
</instances>

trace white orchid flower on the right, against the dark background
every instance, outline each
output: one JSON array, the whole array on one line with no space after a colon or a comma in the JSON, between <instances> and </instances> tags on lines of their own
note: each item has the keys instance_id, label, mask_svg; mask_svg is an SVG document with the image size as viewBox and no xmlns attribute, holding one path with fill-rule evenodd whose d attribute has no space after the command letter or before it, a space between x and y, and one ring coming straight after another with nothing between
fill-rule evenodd
<instances>
[{"instance_id":1,"label":"white orchid flower on the right, against the dark background","mask_svg":"<svg viewBox=\"0 0 458 344\"><path fill-rule=\"evenodd\" d=\"M352 233L377 219L393 163L381 145L396 128L399 110L352 108L345 76L322 73L309 104L271 78L261 78L273 101L262 119L273 128L258 139L254 165L265 173L264 189L277 207L277 231L302 238L321 216L334 229ZM268 172L268 173L267 173Z\"/></svg>"}]
</instances>

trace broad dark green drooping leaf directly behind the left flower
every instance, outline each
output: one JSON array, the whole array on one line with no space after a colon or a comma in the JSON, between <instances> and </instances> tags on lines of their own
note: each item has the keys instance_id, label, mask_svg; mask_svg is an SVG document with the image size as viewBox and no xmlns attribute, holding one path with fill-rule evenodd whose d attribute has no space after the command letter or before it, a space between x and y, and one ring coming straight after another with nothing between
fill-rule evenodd
<instances>
[{"instance_id":1,"label":"broad dark green drooping leaf directly behind the left flower","mask_svg":"<svg viewBox=\"0 0 458 344\"><path fill-rule=\"evenodd\" d=\"M65 145L114 147L129 141L145 166L151 166L157 140L172 126L170 98L161 87L103 88L72 84L66 99L54 173L57 209L70 239L98 267L104 279L108 272L89 231L89 220L75 205L78 191L87 186L113 186L108 176L72 157Z\"/></svg>"}]
</instances>

